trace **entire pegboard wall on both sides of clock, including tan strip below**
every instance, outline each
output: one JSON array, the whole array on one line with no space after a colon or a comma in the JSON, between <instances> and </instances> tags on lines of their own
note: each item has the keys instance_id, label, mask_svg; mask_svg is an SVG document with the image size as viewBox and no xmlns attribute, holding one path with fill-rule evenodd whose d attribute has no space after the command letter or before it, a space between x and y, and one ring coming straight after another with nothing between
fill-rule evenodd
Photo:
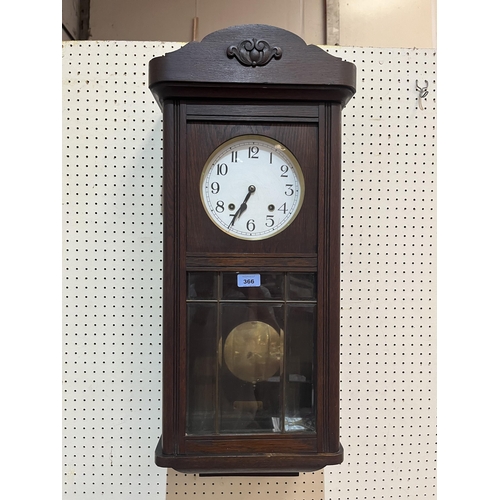
<instances>
[{"instance_id":1,"label":"entire pegboard wall on both sides of clock, including tan strip below","mask_svg":"<svg viewBox=\"0 0 500 500\"><path fill-rule=\"evenodd\" d=\"M295 478L157 468L161 407L160 42L63 44L64 498L435 496L435 54L325 50L357 66L344 110L341 442ZM416 82L429 83L418 101Z\"/></svg>"}]
</instances>

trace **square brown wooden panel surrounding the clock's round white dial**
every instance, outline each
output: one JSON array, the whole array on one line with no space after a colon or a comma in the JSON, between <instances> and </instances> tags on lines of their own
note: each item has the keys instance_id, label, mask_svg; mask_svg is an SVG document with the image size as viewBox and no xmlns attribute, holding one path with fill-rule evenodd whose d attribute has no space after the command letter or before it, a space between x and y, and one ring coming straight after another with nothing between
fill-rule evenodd
<instances>
[{"instance_id":1,"label":"square brown wooden panel surrounding the clock's round white dial","mask_svg":"<svg viewBox=\"0 0 500 500\"><path fill-rule=\"evenodd\" d=\"M207 217L200 200L200 175L210 154L223 142L243 134L272 137L299 161L305 179L302 209L291 226L260 241L243 241L220 231ZM317 126L314 124L242 124L194 122L187 126L184 175L187 178L187 251L255 253L317 252Z\"/></svg>"}]
</instances>

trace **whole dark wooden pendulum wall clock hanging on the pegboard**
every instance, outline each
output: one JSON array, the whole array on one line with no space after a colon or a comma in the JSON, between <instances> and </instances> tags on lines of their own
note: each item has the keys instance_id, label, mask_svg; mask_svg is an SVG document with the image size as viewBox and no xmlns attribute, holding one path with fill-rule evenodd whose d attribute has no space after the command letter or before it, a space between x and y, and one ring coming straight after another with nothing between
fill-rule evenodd
<instances>
[{"instance_id":1,"label":"whole dark wooden pendulum wall clock hanging on the pegboard","mask_svg":"<svg viewBox=\"0 0 500 500\"><path fill-rule=\"evenodd\" d=\"M164 119L161 467L343 460L341 111L355 67L271 26L149 64Z\"/></svg>"}]
</instances>

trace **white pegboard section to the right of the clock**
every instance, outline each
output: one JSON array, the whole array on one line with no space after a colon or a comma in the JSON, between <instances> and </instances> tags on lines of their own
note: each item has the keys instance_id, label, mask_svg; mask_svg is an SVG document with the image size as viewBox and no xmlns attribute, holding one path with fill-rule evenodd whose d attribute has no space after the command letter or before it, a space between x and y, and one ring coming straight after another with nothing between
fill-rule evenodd
<instances>
[{"instance_id":1,"label":"white pegboard section to the right of the clock","mask_svg":"<svg viewBox=\"0 0 500 500\"><path fill-rule=\"evenodd\" d=\"M339 49L344 111L341 437L326 498L435 496L435 54ZM420 87L429 94L419 103Z\"/></svg>"}]
</instances>

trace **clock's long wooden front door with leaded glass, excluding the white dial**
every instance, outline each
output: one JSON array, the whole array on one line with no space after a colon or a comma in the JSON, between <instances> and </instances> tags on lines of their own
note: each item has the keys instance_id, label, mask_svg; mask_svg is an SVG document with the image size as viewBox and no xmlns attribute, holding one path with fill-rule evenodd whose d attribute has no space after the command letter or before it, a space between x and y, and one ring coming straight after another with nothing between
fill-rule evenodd
<instances>
[{"instance_id":1,"label":"clock's long wooden front door with leaded glass, excluding the white dial","mask_svg":"<svg viewBox=\"0 0 500 500\"><path fill-rule=\"evenodd\" d=\"M263 113L259 106L237 110L245 116ZM306 118L293 117L290 111L292 116L280 118L268 105L270 116L257 123L234 119L231 105L218 107L217 121L207 119L210 111L188 103L179 112L187 144L196 145L186 149L180 167L179 209L186 216L180 220L185 257L179 269L184 299L179 347L185 355L180 356L178 379L186 389L178 406L179 451L188 456L228 450L317 453L322 449L319 107L310 106ZM220 119L224 114L227 120ZM279 234L256 241L222 231L200 197L200 177L210 155L231 138L250 134L288 148L301 166L305 187L293 222ZM244 196L236 193L235 199Z\"/></svg>"}]
</instances>

